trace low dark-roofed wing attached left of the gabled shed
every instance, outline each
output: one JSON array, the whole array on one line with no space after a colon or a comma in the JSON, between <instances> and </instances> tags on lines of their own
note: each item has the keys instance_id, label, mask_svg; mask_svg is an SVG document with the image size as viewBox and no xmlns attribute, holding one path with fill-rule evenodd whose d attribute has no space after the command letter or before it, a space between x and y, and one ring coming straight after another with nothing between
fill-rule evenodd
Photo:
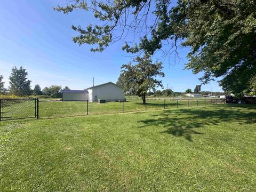
<instances>
[{"instance_id":1,"label":"low dark-roofed wing attached left of the gabled shed","mask_svg":"<svg viewBox=\"0 0 256 192\"><path fill-rule=\"evenodd\" d=\"M88 91L84 90L61 90L62 101L77 101L89 99Z\"/></svg>"}]
</instances>

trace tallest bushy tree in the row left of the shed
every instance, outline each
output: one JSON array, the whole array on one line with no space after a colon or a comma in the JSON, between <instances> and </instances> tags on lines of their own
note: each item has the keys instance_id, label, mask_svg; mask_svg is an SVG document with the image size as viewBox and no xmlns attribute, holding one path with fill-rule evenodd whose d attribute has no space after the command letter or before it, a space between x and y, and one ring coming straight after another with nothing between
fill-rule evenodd
<instances>
[{"instance_id":1,"label":"tallest bushy tree in the row left of the shed","mask_svg":"<svg viewBox=\"0 0 256 192\"><path fill-rule=\"evenodd\" d=\"M28 73L26 72L26 69L23 69L20 67L19 69L17 67L12 68L10 79L10 92L17 96L25 96L30 95L31 89L30 89L30 83L31 81L27 79Z\"/></svg>"}]
</instances>

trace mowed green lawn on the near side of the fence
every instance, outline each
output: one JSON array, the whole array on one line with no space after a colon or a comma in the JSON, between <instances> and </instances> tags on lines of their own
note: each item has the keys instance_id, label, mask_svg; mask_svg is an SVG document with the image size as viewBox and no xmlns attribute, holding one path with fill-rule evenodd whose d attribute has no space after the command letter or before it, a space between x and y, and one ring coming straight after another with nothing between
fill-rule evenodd
<instances>
[{"instance_id":1,"label":"mowed green lawn on the near side of the fence","mask_svg":"<svg viewBox=\"0 0 256 192\"><path fill-rule=\"evenodd\" d=\"M0 191L255 191L256 106L0 122Z\"/></svg>"}]
</instances>

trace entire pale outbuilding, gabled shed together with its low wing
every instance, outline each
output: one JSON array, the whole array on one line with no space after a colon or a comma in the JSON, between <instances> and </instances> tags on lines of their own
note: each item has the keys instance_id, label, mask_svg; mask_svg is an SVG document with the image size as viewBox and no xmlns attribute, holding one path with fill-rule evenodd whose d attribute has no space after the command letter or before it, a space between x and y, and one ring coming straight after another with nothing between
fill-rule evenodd
<instances>
[{"instance_id":1,"label":"entire pale outbuilding, gabled shed together with its low wing","mask_svg":"<svg viewBox=\"0 0 256 192\"><path fill-rule=\"evenodd\" d=\"M108 82L100 85L89 87L85 90L61 90L62 101L90 100L123 100L123 87L115 83Z\"/></svg>"}]
</instances>

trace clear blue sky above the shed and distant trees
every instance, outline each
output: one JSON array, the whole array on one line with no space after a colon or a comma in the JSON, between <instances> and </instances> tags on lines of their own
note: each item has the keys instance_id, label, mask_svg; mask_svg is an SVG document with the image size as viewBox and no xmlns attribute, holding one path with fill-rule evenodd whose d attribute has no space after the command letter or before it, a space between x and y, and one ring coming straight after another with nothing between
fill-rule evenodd
<instances>
[{"instance_id":1,"label":"clear blue sky above the shed and distant trees","mask_svg":"<svg viewBox=\"0 0 256 192\"><path fill-rule=\"evenodd\" d=\"M53 11L52 7L65 4L65 0L44 1L0 1L0 75L5 86L13 66L24 67L28 71L31 87L61 85L81 90L105 82L116 82L121 65L130 57L121 47L124 41L109 46L103 52L90 52L90 45L78 46L73 43L76 35L71 25L86 26L93 22L91 13L75 11L68 15ZM174 91L193 89L200 84L191 70L183 70L187 62L188 49L179 50L182 58L174 65L171 59L164 60L165 77L163 85ZM217 81L202 85L202 91L221 91Z\"/></svg>"}]
</instances>

